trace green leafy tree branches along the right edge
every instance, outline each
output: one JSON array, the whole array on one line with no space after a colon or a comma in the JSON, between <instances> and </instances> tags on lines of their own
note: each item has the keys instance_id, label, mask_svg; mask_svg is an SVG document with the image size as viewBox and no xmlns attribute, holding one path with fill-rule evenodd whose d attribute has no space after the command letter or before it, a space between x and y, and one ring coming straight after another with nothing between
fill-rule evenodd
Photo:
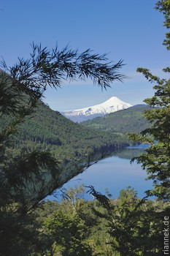
<instances>
[{"instance_id":1,"label":"green leafy tree branches along the right edge","mask_svg":"<svg viewBox=\"0 0 170 256\"><path fill-rule=\"evenodd\" d=\"M158 1L156 9L163 12L165 16L165 26L170 28L170 2L169 0ZM170 41L169 33L166 34L164 44L168 50ZM149 141L152 145L144 154L137 157L137 161L142 163L142 167L147 169L148 178L152 179L154 189L148 192L160 199L169 200L170 198L170 79L161 79L152 75L149 69L138 68L145 78L151 83L155 83L155 95L145 99L144 102L150 107L158 107L147 110L145 117L150 122L151 127L142 131L142 136L132 134L132 140L141 142ZM169 73L170 68L163 69ZM152 138L152 140L150 140Z\"/></svg>"}]
</instances>

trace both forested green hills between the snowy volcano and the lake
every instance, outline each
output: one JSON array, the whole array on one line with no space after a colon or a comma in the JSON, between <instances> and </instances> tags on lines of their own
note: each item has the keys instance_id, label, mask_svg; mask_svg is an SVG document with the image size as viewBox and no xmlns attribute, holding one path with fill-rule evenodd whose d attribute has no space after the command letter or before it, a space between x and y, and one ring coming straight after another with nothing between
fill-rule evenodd
<instances>
[{"instance_id":1,"label":"both forested green hills between the snowy volcano and the lake","mask_svg":"<svg viewBox=\"0 0 170 256\"><path fill-rule=\"evenodd\" d=\"M33 148L50 150L61 162L111 154L131 144L126 132L139 133L150 127L143 117L148 109L137 105L77 124L39 101L34 113L20 124L13 150L16 154ZM4 116L0 121L1 129L11 121L12 116Z\"/></svg>"}]
</instances>

